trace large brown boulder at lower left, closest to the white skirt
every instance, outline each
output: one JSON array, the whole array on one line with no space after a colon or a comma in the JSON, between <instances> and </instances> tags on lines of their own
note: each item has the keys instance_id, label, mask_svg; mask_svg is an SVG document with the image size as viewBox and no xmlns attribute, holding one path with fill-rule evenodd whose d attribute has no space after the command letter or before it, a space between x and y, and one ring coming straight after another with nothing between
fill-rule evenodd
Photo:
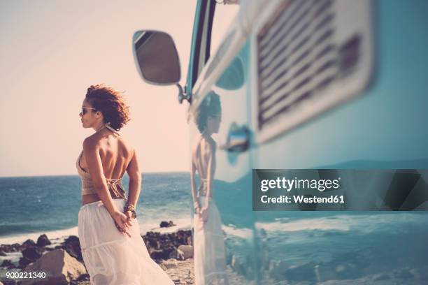
<instances>
[{"instance_id":1,"label":"large brown boulder at lower left, closest to the white skirt","mask_svg":"<svg viewBox=\"0 0 428 285\"><path fill-rule=\"evenodd\" d=\"M69 284L80 275L87 274L82 263L70 256L64 249L55 249L43 254L38 261L30 264L24 272L46 272L46 279L27 279L22 285L62 285Z\"/></svg>"}]
</instances>

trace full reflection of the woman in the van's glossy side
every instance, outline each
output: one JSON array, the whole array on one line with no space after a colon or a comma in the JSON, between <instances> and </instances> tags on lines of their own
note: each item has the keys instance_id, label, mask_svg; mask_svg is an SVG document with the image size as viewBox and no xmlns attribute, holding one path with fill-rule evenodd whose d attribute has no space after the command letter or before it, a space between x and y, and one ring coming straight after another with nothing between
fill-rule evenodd
<instances>
[{"instance_id":1,"label":"full reflection of the woman in the van's glossy side","mask_svg":"<svg viewBox=\"0 0 428 285\"><path fill-rule=\"evenodd\" d=\"M222 222L212 199L216 143L211 135L220 128L220 96L214 92L208 94L199 106L195 122L201 136L198 136L192 149L194 281L197 285L228 284ZM199 189L196 187L196 172L199 174Z\"/></svg>"}]
</instances>

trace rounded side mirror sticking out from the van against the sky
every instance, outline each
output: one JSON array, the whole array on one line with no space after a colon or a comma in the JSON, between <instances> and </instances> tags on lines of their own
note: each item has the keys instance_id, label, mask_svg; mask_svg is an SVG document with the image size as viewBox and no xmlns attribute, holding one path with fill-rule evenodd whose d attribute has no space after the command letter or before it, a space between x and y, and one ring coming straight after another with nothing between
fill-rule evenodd
<instances>
[{"instance_id":1,"label":"rounded side mirror sticking out from the van against the sky","mask_svg":"<svg viewBox=\"0 0 428 285\"><path fill-rule=\"evenodd\" d=\"M137 69L148 83L176 85L180 59L173 38L163 31L136 31L132 38Z\"/></svg>"}]
</instances>

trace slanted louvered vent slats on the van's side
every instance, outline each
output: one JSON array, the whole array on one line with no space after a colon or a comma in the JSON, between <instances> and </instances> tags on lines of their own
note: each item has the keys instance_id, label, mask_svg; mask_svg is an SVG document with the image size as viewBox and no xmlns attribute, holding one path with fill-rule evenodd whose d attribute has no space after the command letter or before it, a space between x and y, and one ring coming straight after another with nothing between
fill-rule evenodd
<instances>
[{"instance_id":1,"label":"slanted louvered vent slats on the van's side","mask_svg":"<svg viewBox=\"0 0 428 285\"><path fill-rule=\"evenodd\" d=\"M259 130L338 78L334 0L297 0L257 36Z\"/></svg>"}]
</instances>

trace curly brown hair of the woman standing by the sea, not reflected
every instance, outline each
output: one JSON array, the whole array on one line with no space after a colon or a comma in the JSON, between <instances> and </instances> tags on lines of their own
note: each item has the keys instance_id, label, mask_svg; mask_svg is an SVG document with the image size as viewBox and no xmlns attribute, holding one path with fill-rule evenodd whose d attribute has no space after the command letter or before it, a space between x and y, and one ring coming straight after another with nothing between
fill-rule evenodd
<instances>
[{"instance_id":1,"label":"curly brown hair of the woman standing by the sea, not reflected","mask_svg":"<svg viewBox=\"0 0 428 285\"><path fill-rule=\"evenodd\" d=\"M129 107L125 104L120 92L105 85L91 85L86 92L85 99L92 108L99 110L104 117L104 123L119 131L131 119Z\"/></svg>"}]
</instances>

